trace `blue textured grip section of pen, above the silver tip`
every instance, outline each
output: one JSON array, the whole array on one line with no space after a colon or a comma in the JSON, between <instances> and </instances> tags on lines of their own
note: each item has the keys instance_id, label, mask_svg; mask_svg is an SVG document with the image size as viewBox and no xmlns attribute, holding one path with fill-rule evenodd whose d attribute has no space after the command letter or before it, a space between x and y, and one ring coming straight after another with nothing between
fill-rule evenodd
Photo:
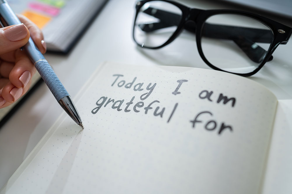
<instances>
[{"instance_id":1,"label":"blue textured grip section of pen, above the silver tip","mask_svg":"<svg viewBox=\"0 0 292 194\"><path fill-rule=\"evenodd\" d=\"M58 102L63 97L69 96L48 61L39 60L34 65Z\"/></svg>"}]
</instances>

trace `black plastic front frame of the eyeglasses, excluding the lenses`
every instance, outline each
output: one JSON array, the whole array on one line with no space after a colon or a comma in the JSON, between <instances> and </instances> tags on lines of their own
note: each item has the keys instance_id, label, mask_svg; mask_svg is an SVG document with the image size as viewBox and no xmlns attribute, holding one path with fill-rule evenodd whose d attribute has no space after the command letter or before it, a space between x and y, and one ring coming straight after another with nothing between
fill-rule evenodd
<instances>
[{"instance_id":1,"label":"black plastic front frame of the eyeglasses, excluding the lenses","mask_svg":"<svg viewBox=\"0 0 292 194\"><path fill-rule=\"evenodd\" d=\"M139 44L135 40L135 35L134 35L136 19L137 19L138 13L140 11L140 8L145 3L148 3L150 1L164 1L167 3L171 3L174 6L177 6L182 11L181 20L177 26L177 29L175 30L175 32L173 32L171 37L164 44L162 44L158 47L142 46L141 44ZM254 13L250 13L250 12L246 12L246 11L240 11L240 10L231 10L231 9L203 10L203 9L197 9L197 8L190 8L190 7L184 6L183 4L177 3L175 1L169 1L169 0L136 1L135 8L136 8L136 14L135 14L135 19L134 19L134 24L133 24L133 39L137 45L139 45L140 47L143 47L143 48L148 48L148 49L160 49L160 48L170 44L173 40L175 40L175 38L177 38L178 35L180 35L180 33L183 31L184 26L186 26L185 24L189 21L192 21L195 23L196 42L197 42L197 49L198 49L199 55L201 56L203 61L209 67L211 67L214 70L219 70L219 71L223 71L223 72L228 72L228 71L222 70L222 69L212 65L204 56L204 53L203 53L203 50L201 47L201 37L202 37L202 29L203 29L205 21L209 17L211 17L213 15L217 15L217 14L237 14L237 15L243 15L243 16L247 16L247 17L256 19L257 21L265 24L266 26L268 26L272 30L272 33L273 33L273 40L272 40L272 43L267 51L267 54L266 54L265 58L261 61L261 63L258 65L258 67L256 67L256 69L253 70L252 72L249 72L249 73L229 72L229 73L237 74L240 76L252 76L252 75L256 74L265 65L265 63L270 59L270 57L272 57L273 52L279 46L279 44L287 44L287 42L292 34L292 28L289 26L286 26L284 24L281 24L279 22L276 22L272 19L269 19L267 17L263 17L263 16L258 15L258 14L254 14ZM200 30L198 30L198 29L200 29Z\"/></svg>"}]
</instances>

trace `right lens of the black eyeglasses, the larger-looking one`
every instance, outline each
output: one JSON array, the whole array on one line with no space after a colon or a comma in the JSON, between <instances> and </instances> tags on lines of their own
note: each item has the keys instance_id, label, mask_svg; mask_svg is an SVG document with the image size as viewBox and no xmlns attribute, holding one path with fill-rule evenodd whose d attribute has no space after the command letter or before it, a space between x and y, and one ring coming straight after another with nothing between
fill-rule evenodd
<instances>
[{"instance_id":1,"label":"right lens of the black eyeglasses, the larger-looking one","mask_svg":"<svg viewBox=\"0 0 292 194\"><path fill-rule=\"evenodd\" d=\"M204 23L201 47L209 63L221 70L249 73L263 61L272 39L272 30L258 20L217 14Z\"/></svg>"}]
</instances>

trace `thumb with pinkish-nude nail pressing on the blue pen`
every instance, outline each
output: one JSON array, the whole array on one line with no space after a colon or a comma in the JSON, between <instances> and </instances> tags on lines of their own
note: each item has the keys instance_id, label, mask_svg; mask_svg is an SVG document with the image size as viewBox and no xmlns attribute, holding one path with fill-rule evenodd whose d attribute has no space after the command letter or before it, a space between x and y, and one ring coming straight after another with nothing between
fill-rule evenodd
<instances>
[{"instance_id":1,"label":"thumb with pinkish-nude nail pressing on the blue pen","mask_svg":"<svg viewBox=\"0 0 292 194\"><path fill-rule=\"evenodd\" d=\"M0 55L24 46L29 39L29 31L24 24L0 28Z\"/></svg>"}]
</instances>

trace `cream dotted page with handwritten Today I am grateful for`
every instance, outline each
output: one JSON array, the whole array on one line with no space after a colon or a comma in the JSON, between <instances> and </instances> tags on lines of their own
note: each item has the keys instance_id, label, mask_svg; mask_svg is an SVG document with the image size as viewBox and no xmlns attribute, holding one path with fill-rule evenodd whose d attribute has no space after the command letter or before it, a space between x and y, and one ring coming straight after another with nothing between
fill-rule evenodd
<instances>
[{"instance_id":1,"label":"cream dotted page with handwritten Today I am grateful for","mask_svg":"<svg viewBox=\"0 0 292 194\"><path fill-rule=\"evenodd\" d=\"M105 63L0 193L257 193L277 99L244 77Z\"/></svg>"}]
</instances>

